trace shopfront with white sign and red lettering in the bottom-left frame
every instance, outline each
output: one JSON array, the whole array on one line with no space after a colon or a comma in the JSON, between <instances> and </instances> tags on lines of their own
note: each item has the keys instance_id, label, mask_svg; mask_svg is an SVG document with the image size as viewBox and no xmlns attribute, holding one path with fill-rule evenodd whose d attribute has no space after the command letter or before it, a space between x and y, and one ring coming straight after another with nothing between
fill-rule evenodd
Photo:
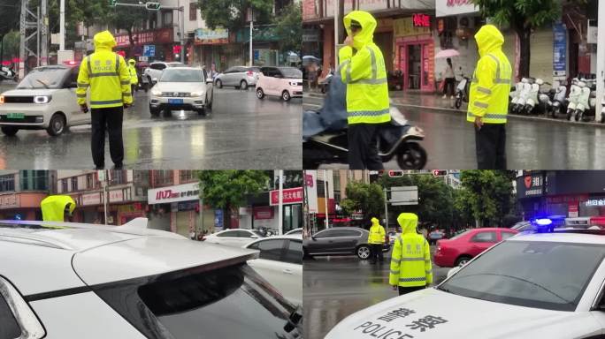
<instances>
[{"instance_id":1,"label":"shopfront with white sign and red lettering in the bottom-left frame","mask_svg":"<svg viewBox=\"0 0 605 339\"><path fill-rule=\"evenodd\" d=\"M199 220L200 191L198 183L174 185L149 189L147 192L149 204L149 227L156 230L170 230L182 236L189 237L191 232L221 229L222 211L203 208L203 225ZM218 222L218 223L217 223ZM202 230L199 230L199 227Z\"/></svg>"}]
</instances>

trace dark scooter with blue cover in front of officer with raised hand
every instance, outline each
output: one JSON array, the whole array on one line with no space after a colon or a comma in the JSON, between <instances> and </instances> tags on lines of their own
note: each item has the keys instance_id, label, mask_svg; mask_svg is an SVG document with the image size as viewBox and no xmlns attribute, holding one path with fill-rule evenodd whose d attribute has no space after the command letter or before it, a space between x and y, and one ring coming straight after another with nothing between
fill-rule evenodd
<instances>
[{"instance_id":1,"label":"dark scooter with blue cover in front of officer with raised hand","mask_svg":"<svg viewBox=\"0 0 605 339\"><path fill-rule=\"evenodd\" d=\"M348 163L346 85L334 74L318 111L303 112L303 167L317 169L322 163ZM426 151L418 144L424 132L408 124L399 109L391 107L391 123L380 126L377 147L382 162L396 159L402 169L422 169Z\"/></svg>"}]
</instances>

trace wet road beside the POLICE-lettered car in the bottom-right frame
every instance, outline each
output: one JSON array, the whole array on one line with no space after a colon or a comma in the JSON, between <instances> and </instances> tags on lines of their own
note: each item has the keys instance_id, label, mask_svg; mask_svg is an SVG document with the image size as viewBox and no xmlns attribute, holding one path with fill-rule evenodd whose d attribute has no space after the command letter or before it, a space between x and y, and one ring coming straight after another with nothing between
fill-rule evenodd
<instances>
[{"instance_id":1,"label":"wet road beside the POLICE-lettered car in the bottom-right frame","mask_svg":"<svg viewBox=\"0 0 605 339\"><path fill-rule=\"evenodd\" d=\"M435 246L431 246L434 252ZM305 339L323 339L352 313L398 296L388 285L390 255L382 265L349 257L317 257L303 263ZM433 283L442 282L450 268L433 265Z\"/></svg>"}]
</instances>

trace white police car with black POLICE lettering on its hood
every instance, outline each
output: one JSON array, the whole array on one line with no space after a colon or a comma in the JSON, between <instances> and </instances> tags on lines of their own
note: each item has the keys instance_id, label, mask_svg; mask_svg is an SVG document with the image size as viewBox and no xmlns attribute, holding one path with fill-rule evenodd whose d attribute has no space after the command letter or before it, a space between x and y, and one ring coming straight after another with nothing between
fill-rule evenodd
<instances>
[{"instance_id":1,"label":"white police car with black POLICE lettering on its hood","mask_svg":"<svg viewBox=\"0 0 605 339\"><path fill-rule=\"evenodd\" d=\"M325 338L603 338L604 257L603 230L520 233L434 288L348 316Z\"/></svg>"}]
</instances>

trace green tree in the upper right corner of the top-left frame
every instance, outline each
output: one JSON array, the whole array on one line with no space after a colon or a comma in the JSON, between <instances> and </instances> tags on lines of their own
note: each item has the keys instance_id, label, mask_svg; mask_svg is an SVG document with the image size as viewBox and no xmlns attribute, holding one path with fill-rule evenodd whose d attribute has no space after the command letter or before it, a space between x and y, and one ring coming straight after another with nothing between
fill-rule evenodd
<instances>
[{"instance_id":1,"label":"green tree in the upper right corner of the top-left frame","mask_svg":"<svg viewBox=\"0 0 605 339\"><path fill-rule=\"evenodd\" d=\"M280 49L300 55L303 46L303 7L295 2L275 18L275 34L280 37Z\"/></svg>"}]
</instances>

